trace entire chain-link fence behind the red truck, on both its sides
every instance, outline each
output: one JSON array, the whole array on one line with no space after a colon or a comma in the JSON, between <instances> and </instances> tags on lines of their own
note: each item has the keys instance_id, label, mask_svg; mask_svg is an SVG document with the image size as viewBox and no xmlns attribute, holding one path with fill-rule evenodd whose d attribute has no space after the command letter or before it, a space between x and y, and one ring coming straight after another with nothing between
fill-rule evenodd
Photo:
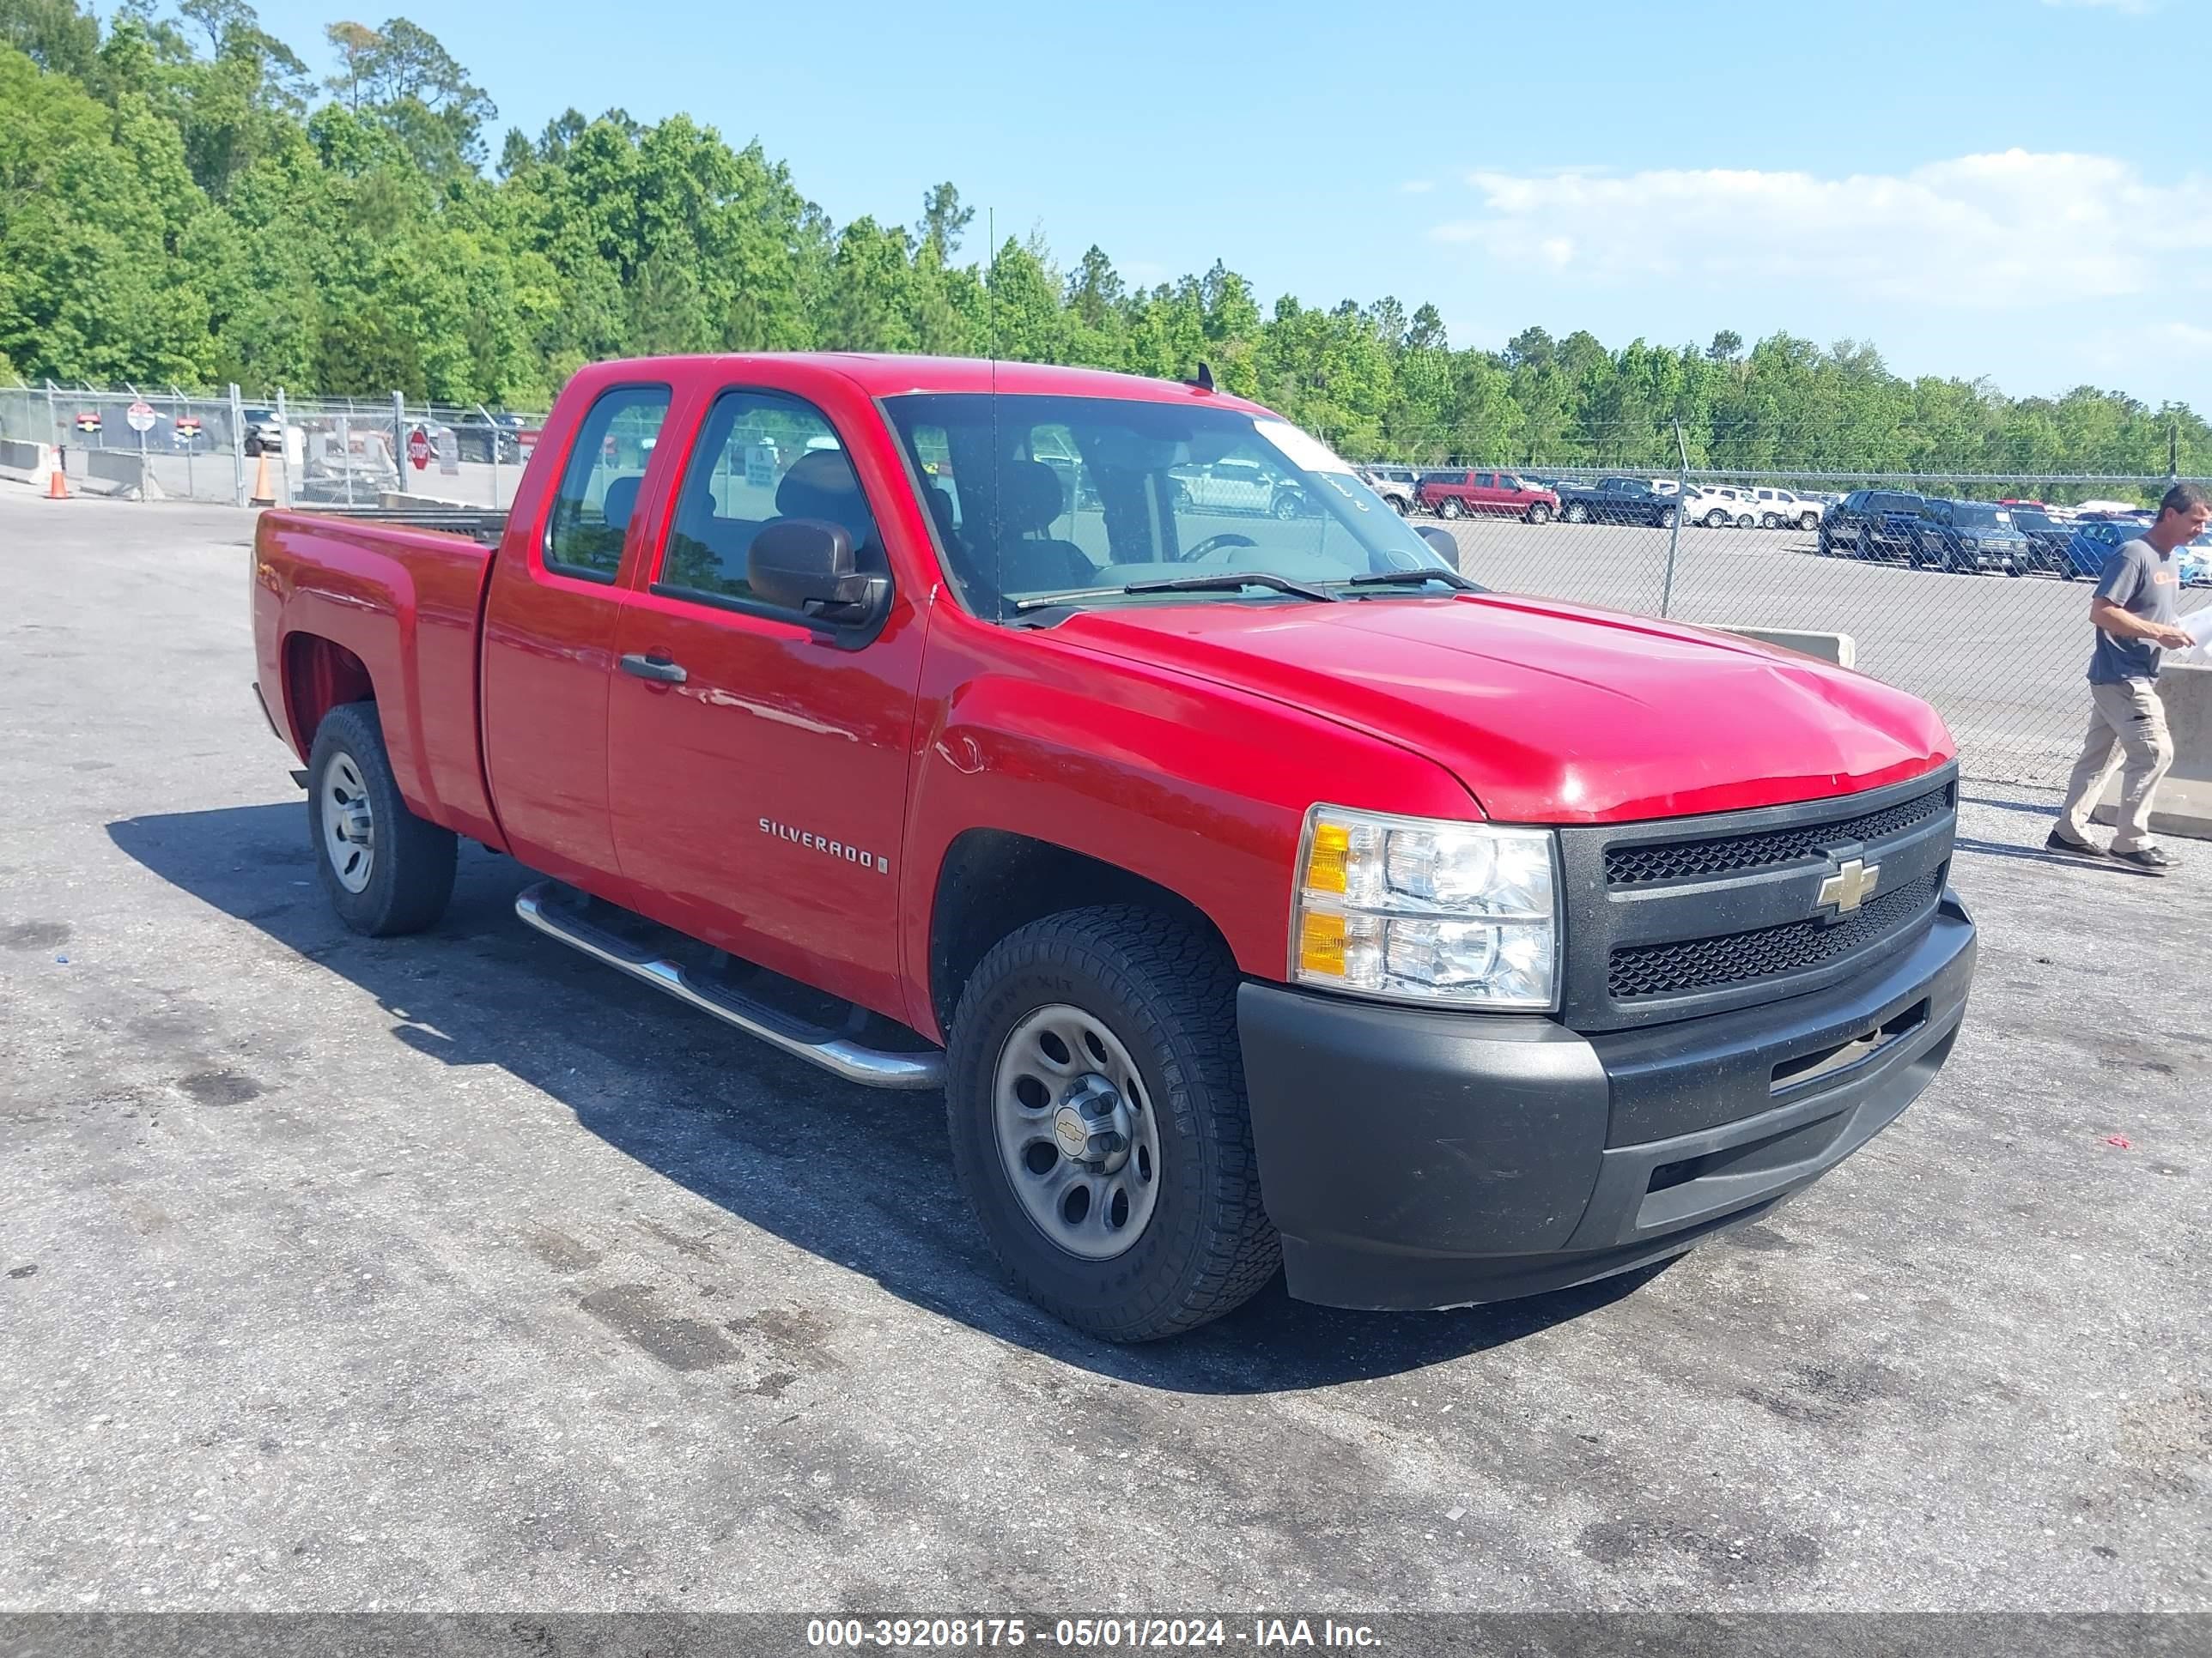
<instances>
[{"instance_id":1,"label":"entire chain-link fence behind the red truck, on both its sides","mask_svg":"<svg viewBox=\"0 0 2212 1658\"><path fill-rule=\"evenodd\" d=\"M540 429L533 413L398 396L0 387L0 471L44 484L62 455L73 491L137 500L507 508ZM1874 473L1829 460L1863 438L1759 433L1765 464L1739 471L1690 466L1679 440L1648 431L1568 433L1553 444L1559 464L1367 471L1420 522L1444 524L1460 568L1484 586L1849 634L1863 672L1942 712L1969 776L2062 785L2088 718L2088 577L2135 533L2117 508L2157 502L2172 475ZM1425 449L1484 444L1453 436ZM2183 577L2183 612L2212 604L2212 548L2185 550Z\"/></svg>"}]
</instances>

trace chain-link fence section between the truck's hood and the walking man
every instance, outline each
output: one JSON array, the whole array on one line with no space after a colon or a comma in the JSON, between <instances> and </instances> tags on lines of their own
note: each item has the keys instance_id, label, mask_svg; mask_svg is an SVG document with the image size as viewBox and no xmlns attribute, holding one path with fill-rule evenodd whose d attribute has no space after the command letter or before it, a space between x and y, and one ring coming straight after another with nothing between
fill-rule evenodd
<instances>
[{"instance_id":1,"label":"chain-link fence section between the truck's hood and the walking man","mask_svg":"<svg viewBox=\"0 0 2212 1658\"><path fill-rule=\"evenodd\" d=\"M1860 672L1942 712L1969 776L2028 787L2064 785L2079 754L2088 588L2110 546L2148 524L2117 508L2157 502L2172 482L1422 471L1418 522L1447 524L1460 568L1484 586L1849 634ZM2181 575L2183 612L2212 604L2212 548L2185 548Z\"/></svg>"}]
</instances>

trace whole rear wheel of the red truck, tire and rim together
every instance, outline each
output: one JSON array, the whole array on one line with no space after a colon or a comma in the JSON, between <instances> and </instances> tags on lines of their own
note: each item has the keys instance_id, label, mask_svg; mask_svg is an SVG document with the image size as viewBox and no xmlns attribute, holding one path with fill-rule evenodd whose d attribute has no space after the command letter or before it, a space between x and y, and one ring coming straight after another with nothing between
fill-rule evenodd
<instances>
[{"instance_id":1,"label":"whole rear wheel of the red truck, tire and rim together","mask_svg":"<svg viewBox=\"0 0 2212 1658\"><path fill-rule=\"evenodd\" d=\"M458 840L400 798L376 703L341 703L316 727L307 833L323 893L356 933L420 933L445 915Z\"/></svg>"}]
</instances>

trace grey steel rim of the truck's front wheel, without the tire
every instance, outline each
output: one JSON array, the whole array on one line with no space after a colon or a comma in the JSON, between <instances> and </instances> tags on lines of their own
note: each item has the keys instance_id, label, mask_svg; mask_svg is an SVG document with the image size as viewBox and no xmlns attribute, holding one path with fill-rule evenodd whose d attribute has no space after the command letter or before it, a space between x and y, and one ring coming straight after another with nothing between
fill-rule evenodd
<instances>
[{"instance_id":1,"label":"grey steel rim of the truck's front wheel, without the tire","mask_svg":"<svg viewBox=\"0 0 2212 1658\"><path fill-rule=\"evenodd\" d=\"M1066 1001L1029 1012L998 1050L991 1123L1000 1167L1037 1231L1082 1260L1137 1245L1159 1203L1159 1121L1137 1061L1104 1021ZM1091 1136L1077 1154L1079 1127Z\"/></svg>"}]
</instances>

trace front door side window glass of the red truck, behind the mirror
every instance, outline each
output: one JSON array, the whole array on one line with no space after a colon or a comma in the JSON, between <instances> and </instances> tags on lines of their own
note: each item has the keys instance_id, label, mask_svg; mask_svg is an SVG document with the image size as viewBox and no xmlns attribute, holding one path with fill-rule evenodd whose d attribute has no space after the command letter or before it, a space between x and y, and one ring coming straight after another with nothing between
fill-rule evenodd
<instances>
[{"instance_id":1,"label":"front door side window glass of the red truck, behind the mirror","mask_svg":"<svg viewBox=\"0 0 2212 1658\"><path fill-rule=\"evenodd\" d=\"M781 517L841 524L856 568L889 568L860 480L823 411L781 391L723 391L684 469L653 590L761 604L748 575L752 537Z\"/></svg>"}]
</instances>

